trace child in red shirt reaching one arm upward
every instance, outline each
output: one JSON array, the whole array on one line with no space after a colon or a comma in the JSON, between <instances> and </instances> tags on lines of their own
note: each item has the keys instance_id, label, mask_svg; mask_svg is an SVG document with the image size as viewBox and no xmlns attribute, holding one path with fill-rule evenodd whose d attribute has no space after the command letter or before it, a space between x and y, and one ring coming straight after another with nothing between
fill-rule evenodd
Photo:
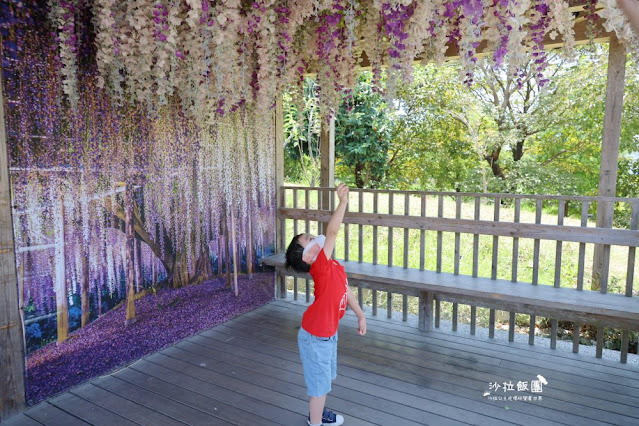
<instances>
[{"instance_id":1,"label":"child in red shirt reaching one arm upward","mask_svg":"<svg viewBox=\"0 0 639 426\"><path fill-rule=\"evenodd\" d=\"M348 288L344 267L331 259L335 238L348 204L348 187L337 187L339 205L326 228L326 237L296 235L286 250L286 265L297 272L310 272L315 282L315 301L304 312L297 344L309 396L308 424L341 425L344 418L324 408L331 381L337 377L337 327L346 305L357 314L360 335L366 334L366 317Z\"/></svg>"}]
</instances>

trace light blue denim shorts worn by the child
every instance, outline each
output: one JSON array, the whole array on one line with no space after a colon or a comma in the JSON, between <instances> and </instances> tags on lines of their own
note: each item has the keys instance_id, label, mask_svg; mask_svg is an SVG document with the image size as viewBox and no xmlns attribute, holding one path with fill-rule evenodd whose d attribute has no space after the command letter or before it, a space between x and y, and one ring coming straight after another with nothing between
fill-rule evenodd
<instances>
[{"instance_id":1,"label":"light blue denim shorts worn by the child","mask_svg":"<svg viewBox=\"0 0 639 426\"><path fill-rule=\"evenodd\" d=\"M331 337L317 337L300 327L297 333L306 393L322 396L331 391L337 378L337 332Z\"/></svg>"}]
</instances>

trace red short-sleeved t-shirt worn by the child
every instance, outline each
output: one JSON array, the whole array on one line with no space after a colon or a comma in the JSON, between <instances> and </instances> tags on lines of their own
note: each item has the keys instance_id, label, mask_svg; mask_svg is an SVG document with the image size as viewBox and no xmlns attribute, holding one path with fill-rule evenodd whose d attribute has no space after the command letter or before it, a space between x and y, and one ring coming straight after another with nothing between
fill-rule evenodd
<instances>
[{"instance_id":1,"label":"red short-sleeved t-shirt worn by the child","mask_svg":"<svg viewBox=\"0 0 639 426\"><path fill-rule=\"evenodd\" d=\"M346 272L338 261L327 259L324 250L320 250L310 273L315 282L315 301L304 312L302 328L317 337L331 337L346 312Z\"/></svg>"}]
</instances>

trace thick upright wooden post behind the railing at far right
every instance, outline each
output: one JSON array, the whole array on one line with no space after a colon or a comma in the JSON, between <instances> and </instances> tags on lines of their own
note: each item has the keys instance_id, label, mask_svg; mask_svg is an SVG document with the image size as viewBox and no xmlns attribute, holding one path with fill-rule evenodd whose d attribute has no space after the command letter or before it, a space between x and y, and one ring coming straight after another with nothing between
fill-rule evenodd
<instances>
[{"instance_id":1,"label":"thick upright wooden post behind the railing at far right","mask_svg":"<svg viewBox=\"0 0 639 426\"><path fill-rule=\"evenodd\" d=\"M619 138L621 114L626 76L626 47L616 37L610 40L608 52L608 81L606 86L606 110L604 113L601 166L599 169L599 196L614 197L617 193L617 161L619 160ZM597 203L597 227L612 227L614 203ZM591 290L605 292L608 273L604 265L610 258L610 246L595 245L592 265Z\"/></svg>"}]
</instances>

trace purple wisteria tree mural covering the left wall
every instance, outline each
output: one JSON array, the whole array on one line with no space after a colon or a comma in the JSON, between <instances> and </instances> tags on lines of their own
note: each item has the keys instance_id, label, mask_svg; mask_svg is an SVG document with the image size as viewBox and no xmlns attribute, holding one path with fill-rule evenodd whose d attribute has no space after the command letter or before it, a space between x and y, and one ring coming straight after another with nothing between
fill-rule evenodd
<instances>
[{"instance_id":1,"label":"purple wisteria tree mural covering the left wall","mask_svg":"<svg viewBox=\"0 0 639 426\"><path fill-rule=\"evenodd\" d=\"M71 103L51 9L26 6L0 10L34 403L272 299L272 274L254 265L273 249L275 137L272 112L253 105L197 123L173 99L152 113L113 99L89 14ZM232 269L248 274L215 279Z\"/></svg>"}]
</instances>

